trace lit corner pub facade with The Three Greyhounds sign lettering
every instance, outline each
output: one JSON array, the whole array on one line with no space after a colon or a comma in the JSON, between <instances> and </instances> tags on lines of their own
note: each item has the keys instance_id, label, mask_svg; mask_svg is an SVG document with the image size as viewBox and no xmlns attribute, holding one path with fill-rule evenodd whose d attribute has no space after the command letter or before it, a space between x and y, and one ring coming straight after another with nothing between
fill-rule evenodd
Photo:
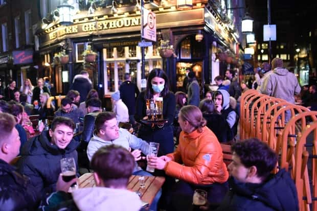
<instances>
[{"instance_id":1,"label":"lit corner pub facade with The Three Greyhounds sign lettering","mask_svg":"<svg viewBox=\"0 0 317 211\"><path fill-rule=\"evenodd\" d=\"M57 93L66 93L74 76L85 69L94 88L106 95L117 91L124 73L130 73L141 89L141 12L138 4L138 1L112 1L108 5L96 2L75 5L78 11L72 25L63 26L58 18L42 25L36 32L43 63L39 77L49 76L56 84ZM237 33L219 18L212 3L193 1L187 9L179 9L177 1L153 5L145 4L145 8L155 13L157 37L156 42L145 47L145 75L153 68L163 68L172 91L182 90L188 68L195 72L202 86L213 82L221 71L216 53L219 50L238 53ZM160 40L169 40L173 49L171 56L160 54ZM88 48L97 54L94 62L85 61L83 53ZM57 54L62 51L68 56L66 62L56 61Z\"/></svg>"}]
</instances>

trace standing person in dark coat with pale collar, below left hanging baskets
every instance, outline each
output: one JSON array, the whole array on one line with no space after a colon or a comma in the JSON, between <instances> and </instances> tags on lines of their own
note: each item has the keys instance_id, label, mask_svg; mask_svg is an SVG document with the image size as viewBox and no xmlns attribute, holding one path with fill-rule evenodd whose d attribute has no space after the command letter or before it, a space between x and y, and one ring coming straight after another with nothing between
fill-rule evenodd
<instances>
[{"instance_id":1,"label":"standing person in dark coat with pale collar, below left hanging baskets","mask_svg":"<svg viewBox=\"0 0 317 211\"><path fill-rule=\"evenodd\" d=\"M93 88L92 81L89 79L87 71L81 71L79 75L76 75L71 85L70 90L76 90L80 93L79 103L84 102L90 89Z\"/></svg>"}]
</instances>

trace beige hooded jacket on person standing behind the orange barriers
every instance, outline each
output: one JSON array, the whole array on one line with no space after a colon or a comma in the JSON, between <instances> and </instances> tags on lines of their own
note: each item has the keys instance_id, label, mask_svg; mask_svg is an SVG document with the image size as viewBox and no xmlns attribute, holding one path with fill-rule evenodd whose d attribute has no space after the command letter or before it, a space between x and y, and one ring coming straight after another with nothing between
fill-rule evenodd
<instances>
[{"instance_id":1,"label":"beige hooded jacket on person standing behind the orange barriers","mask_svg":"<svg viewBox=\"0 0 317 211\"><path fill-rule=\"evenodd\" d=\"M270 74L264 81L261 92L264 95L281 98L293 104L295 103L294 95L301 92L301 86L294 74L285 68L277 67L273 74Z\"/></svg>"}]
</instances>

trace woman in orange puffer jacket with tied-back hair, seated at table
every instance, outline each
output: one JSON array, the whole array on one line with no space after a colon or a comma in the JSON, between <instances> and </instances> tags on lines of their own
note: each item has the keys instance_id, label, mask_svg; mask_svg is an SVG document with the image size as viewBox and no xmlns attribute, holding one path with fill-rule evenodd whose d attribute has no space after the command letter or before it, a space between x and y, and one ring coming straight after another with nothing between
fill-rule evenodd
<instances>
[{"instance_id":1,"label":"woman in orange puffer jacket with tied-back hair, seated at table","mask_svg":"<svg viewBox=\"0 0 317 211\"><path fill-rule=\"evenodd\" d=\"M196 106L180 109L178 122L183 131L176 151L148 157L150 167L179 179L169 190L169 209L188 210L195 189L207 191L209 202L221 202L228 191L229 173L216 135L206 127L206 120Z\"/></svg>"}]
</instances>

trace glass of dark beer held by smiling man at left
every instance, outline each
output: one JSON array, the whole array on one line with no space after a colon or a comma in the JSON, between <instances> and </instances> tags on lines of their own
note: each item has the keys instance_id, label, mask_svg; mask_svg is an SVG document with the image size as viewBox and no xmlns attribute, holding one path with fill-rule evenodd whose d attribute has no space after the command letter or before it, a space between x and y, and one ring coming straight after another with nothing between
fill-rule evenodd
<instances>
[{"instance_id":1,"label":"glass of dark beer held by smiling man at left","mask_svg":"<svg viewBox=\"0 0 317 211\"><path fill-rule=\"evenodd\" d=\"M62 179L69 182L76 178L76 163L74 157L66 157L60 160L60 168L62 172ZM72 184L72 188L77 188L77 183Z\"/></svg>"}]
</instances>

